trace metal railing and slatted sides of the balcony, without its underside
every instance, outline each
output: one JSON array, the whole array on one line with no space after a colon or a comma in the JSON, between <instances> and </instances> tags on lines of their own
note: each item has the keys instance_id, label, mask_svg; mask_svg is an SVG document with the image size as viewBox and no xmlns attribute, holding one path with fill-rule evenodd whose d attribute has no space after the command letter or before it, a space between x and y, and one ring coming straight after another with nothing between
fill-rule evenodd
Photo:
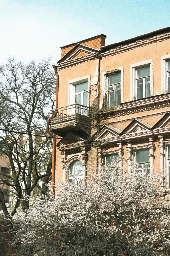
<instances>
[{"instance_id":1,"label":"metal railing and slatted sides of the balcony, without its underside","mask_svg":"<svg viewBox=\"0 0 170 256\"><path fill-rule=\"evenodd\" d=\"M72 104L50 111L50 129L65 128L66 126L88 126L90 107Z\"/></svg>"}]
</instances>

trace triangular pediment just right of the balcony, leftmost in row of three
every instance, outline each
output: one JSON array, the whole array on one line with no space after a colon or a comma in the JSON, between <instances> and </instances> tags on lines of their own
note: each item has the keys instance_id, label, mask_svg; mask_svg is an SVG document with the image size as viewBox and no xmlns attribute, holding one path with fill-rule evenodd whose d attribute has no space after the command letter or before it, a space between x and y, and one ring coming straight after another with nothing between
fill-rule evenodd
<instances>
[{"instance_id":1,"label":"triangular pediment just right of the balcony, leftmost in row of three","mask_svg":"<svg viewBox=\"0 0 170 256\"><path fill-rule=\"evenodd\" d=\"M103 125L92 137L94 140L107 141L110 138L118 136L120 132L119 129L113 126Z\"/></svg>"}]
</instances>

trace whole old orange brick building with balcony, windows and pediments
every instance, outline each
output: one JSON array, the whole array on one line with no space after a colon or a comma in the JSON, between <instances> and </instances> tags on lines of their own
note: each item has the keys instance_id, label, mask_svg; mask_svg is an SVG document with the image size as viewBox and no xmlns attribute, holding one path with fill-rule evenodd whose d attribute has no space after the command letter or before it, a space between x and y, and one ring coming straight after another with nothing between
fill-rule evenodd
<instances>
[{"instance_id":1,"label":"whole old orange brick building with balcony, windows and pediments","mask_svg":"<svg viewBox=\"0 0 170 256\"><path fill-rule=\"evenodd\" d=\"M161 170L169 188L170 27L107 46L105 38L61 47L53 181L126 159L142 173Z\"/></svg>"}]
</instances>

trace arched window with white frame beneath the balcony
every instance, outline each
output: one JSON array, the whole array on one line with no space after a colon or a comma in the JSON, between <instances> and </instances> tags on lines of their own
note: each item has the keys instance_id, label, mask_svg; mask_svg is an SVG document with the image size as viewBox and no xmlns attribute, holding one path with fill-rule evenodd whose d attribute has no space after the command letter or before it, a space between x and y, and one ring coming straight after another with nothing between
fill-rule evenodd
<instances>
[{"instance_id":1,"label":"arched window with white frame beneath the balcony","mask_svg":"<svg viewBox=\"0 0 170 256\"><path fill-rule=\"evenodd\" d=\"M75 160L68 167L68 181L75 183L75 179L83 180L83 165L80 160Z\"/></svg>"}]
</instances>

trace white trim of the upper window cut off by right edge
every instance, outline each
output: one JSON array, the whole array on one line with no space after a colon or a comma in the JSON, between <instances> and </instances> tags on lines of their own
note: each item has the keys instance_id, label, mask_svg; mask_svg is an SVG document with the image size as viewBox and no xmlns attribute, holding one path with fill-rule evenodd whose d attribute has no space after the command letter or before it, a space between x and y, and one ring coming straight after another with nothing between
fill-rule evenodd
<instances>
[{"instance_id":1,"label":"white trim of the upper window cut off by right edge","mask_svg":"<svg viewBox=\"0 0 170 256\"><path fill-rule=\"evenodd\" d=\"M161 92L167 93L167 81L166 81L166 60L170 59L170 54L161 56Z\"/></svg>"}]
</instances>

